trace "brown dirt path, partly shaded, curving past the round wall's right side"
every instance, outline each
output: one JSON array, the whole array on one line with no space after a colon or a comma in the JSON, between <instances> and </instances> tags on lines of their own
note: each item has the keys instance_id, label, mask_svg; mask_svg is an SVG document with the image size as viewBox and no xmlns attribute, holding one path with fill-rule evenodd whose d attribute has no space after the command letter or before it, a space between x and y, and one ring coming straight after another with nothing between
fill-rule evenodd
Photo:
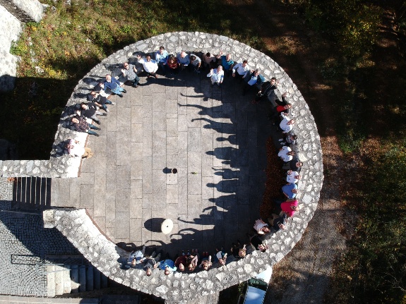
<instances>
[{"instance_id":1,"label":"brown dirt path, partly shaded, curving past the round wall's right side","mask_svg":"<svg viewBox=\"0 0 406 304\"><path fill-rule=\"evenodd\" d=\"M234 1L234 3L239 1ZM250 23L258 25L265 40L262 49L285 69L316 118L323 148L325 180L318 209L308 229L289 255L274 267L273 282L265 303L323 303L333 262L345 250L340 190L345 185L345 162L335 134L334 100L323 83L320 64L329 46L306 29L286 6L266 0L251 3ZM346 165L347 166L347 165Z\"/></svg>"}]
</instances>

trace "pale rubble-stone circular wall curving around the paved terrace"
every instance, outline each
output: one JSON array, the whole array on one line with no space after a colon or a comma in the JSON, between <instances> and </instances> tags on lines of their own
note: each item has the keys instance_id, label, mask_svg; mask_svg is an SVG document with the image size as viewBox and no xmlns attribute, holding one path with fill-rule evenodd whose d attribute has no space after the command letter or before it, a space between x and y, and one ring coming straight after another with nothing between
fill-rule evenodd
<instances>
[{"instance_id":1,"label":"pale rubble-stone circular wall curving around the paved terrace","mask_svg":"<svg viewBox=\"0 0 406 304\"><path fill-rule=\"evenodd\" d=\"M141 269L121 269L119 260L127 257L128 253L117 248L100 233L83 210L49 210L44 213L44 222L47 226L56 226L75 245L78 250L110 279L130 286L144 293L167 299L169 302L181 303L184 300L196 299L225 289L241 281L249 279L265 270L266 265L274 265L280 261L301 238L302 233L317 207L320 190L323 183L323 163L320 138L318 136L314 117L309 111L304 98L292 83L285 71L270 57L256 51L246 44L237 42L228 37L211 35L202 32L172 32L131 44L103 60L92 69L88 75L78 83L75 93L88 92L92 84L86 83L86 79L100 78L109 71L106 66L121 63L132 58L135 53L150 53L160 46L169 51L179 52L205 52L218 54L224 51L232 54L234 61L241 62L247 59L251 68L260 68L261 73L267 78L276 77L279 82L279 92L289 93L289 101L292 103L292 116L297 123L294 133L298 135L299 159L304 162L301 170L302 179L299 182L300 194L298 195L301 211L295 214L288 228L268 236L265 243L269 250L266 253L254 251L238 262L229 262L224 267L210 269L208 272L184 274L174 272L165 276L162 271L154 271L152 276L145 276ZM72 95L68 106L81 102ZM66 133L66 134L64 134ZM59 128L56 134L56 145L59 141L66 140L66 128ZM265 147L263 147L265 149Z\"/></svg>"}]
</instances>

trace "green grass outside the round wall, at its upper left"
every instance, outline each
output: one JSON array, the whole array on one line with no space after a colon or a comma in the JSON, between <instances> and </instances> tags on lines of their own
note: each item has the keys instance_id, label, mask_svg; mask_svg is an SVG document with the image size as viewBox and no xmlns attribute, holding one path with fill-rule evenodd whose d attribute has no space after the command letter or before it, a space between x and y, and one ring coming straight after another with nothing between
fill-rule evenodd
<instances>
[{"instance_id":1,"label":"green grass outside the round wall, at its upper left","mask_svg":"<svg viewBox=\"0 0 406 304\"><path fill-rule=\"evenodd\" d=\"M20 159L49 159L59 116L78 80L126 45L187 30L227 35L258 49L263 46L255 28L240 22L244 11L221 1L44 3L56 6L56 11L48 8L40 23L27 23L13 44L12 54L21 58L18 79L16 89L4 95L6 111L0 113L4 125L0 138L16 143Z\"/></svg>"}]
</instances>

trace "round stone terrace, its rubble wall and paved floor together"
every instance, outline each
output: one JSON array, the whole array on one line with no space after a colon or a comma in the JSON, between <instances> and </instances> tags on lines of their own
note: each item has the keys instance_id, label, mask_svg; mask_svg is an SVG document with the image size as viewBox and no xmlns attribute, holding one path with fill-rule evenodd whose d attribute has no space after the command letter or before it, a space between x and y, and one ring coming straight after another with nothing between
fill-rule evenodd
<instances>
[{"instance_id":1,"label":"round stone terrace, its rubble wall and paved floor together","mask_svg":"<svg viewBox=\"0 0 406 304\"><path fill-rule=\"evenodd\" d=\"M251 104L241 85L226 78L222 88L210 87L203 74L181 73L175 78L141 78L141 87L128 87L124 98L112 96L100 137L78 134L67 126L76 105L120 63L136 63L136 54L164 46L201 54L220 51L234 61L247 59L265 78L276 77L277 95L287 92L297 123L301 211L288 229L265 239L270 250L254 251L239 261L208 272L165 276L155 270L123 269L125 245L159 246L169 253L198 248L214 252L244 238L259 217L266 168L265 142L276 132L266 117L269 105ZM251 95L254 93L251 92ZM64 154L69 138L86 142L95 157L82 161ZM172 32L131 44L103 60L80 80L61 115L49 160L0 161L1 176L52 178L44 226L56 227L102 274L119 284L165 298L167 303L222 291L280 261L301 238L313 217L323 183L321 144L314 117L298 88L269 56L246 44L203 32ZM177 176L165 173L176 167ZM282 181L281 181L282 184ZM66 209L65 207L73 207ZM172 234L156 226L172 219ZM118 246L117 243L121 244ZM122 245L124 244L124 246ZM124 248L124 249L123 249Z\"/></svg>"}]
</instances>

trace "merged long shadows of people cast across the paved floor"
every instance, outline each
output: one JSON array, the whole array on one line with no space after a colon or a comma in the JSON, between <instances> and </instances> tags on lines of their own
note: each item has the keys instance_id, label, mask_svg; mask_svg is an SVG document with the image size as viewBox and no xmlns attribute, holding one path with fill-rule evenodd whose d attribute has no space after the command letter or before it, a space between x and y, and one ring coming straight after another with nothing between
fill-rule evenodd
<instances>
[{"instance_id":1,"label":"merged long shadows of people cast across the paved floor","mask_svg":"<svg viewBox=\"0 0 406 304\"><path fill-rule=\"evenodd\" d=\"M264 175L261 169L265 169L266 157L258 157L266 155L265 141L269 132L261 127L270 124L266 111L263 111L267 106L261 106L259 114L255 108L244 111L249 103L246 99L250 97L238 95L239 90L236 93L235 85L232 79L225 81L220 96L217 91L209 89L209 92L201 92L195 87L195 93L200 98L213 94L220 99L221 103L213 107L204 104L204 101L202 104L178 103L179 107L197 109L196 118L191 121L206 123L202 127L214 132L213 140L217 144L213 145L213 150L203 151L214 159L211 168L213 182L202 184L203 188L212 189L214 195L207 197L197 217L178 217L179 231L174 233L171 243L160 242L169 252L176 253L177 249L187 250L195 246L211 253L220 247L229 251L233 241L249 241L246 232L259 217L263 184L259 185L258 181ZM194 96L189 94L187 97ZM262 122L256 122L257 119ZM263 129L263 133L268 135L258 135L258 129ZM258 150L264 151L258 153ZM196 229L196 225L201 225L201 230ZM200 248L201 244L204 248Z\"/></svg>"}]
</instances>

